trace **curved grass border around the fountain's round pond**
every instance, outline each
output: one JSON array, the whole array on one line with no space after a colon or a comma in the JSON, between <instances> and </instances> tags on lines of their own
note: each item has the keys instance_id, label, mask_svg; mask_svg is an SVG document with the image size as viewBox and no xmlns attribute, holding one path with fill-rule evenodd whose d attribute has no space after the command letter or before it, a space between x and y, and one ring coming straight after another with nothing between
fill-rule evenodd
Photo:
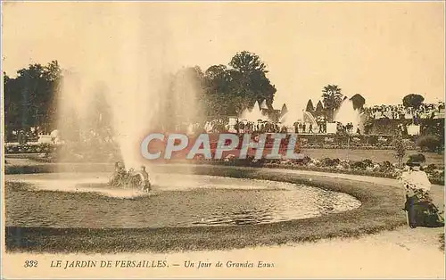
<instances>
[{"instance_id":1,"label":"curved grass border around the fountain's round pond","mask_svg":"<svg viewBox=\"0 0 446 280\"><path fill-rule=\"evenodd\" d=\"M186 166L161 167L162 172L186 173ZM161 171L161 170L160 170ZM199 166L196 174L257 178L313 185L351 194L362 205L355 210L318 218L247 226L165 228L52 228L7 226L6 251L107 253L125 251L227 250L256 245L314 242L332 237L359 237L406 224L401 191L328 177L314 177L273 169Z\"/></svg>"}]
</instances>

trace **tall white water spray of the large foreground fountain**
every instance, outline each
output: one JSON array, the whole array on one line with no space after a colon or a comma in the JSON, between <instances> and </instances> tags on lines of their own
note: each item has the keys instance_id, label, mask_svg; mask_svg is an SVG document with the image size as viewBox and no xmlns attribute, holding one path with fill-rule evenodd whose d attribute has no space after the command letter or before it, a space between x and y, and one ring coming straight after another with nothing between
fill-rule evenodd
<instances>
[{"instance_id":1,"label":"tall white water spray of the large foreground fountain","mask_svg":"<svg viewBox=\"0 0 446 280\"><path fill-rule=\"evenodd\" d=\"M194 73L182 69L173 74L177 69L172 65L181 60L173 55L178 42L169 40L162 24L110 21L144 18L138 4L121 5L104 5L106 11L91 15L94 24L83 29L79 61L63 77L58 129L66 145L61 158L122 160L127 169L139 169L144 163L140 141L146 134L172 132L202 115ZM113 36L103 32L103 25L115 26L107 28ZM143 37L150 37L151 45Z\"/></svg>"}]
</instances>

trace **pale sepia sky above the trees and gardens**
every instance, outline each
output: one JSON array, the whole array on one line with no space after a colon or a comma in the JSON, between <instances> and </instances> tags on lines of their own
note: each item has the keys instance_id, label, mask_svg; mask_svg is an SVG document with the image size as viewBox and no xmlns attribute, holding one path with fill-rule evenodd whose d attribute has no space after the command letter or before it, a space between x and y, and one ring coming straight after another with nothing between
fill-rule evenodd
<instances>
[{"instance_id":1,"label":"pale sepia sky above the trees and gardens","mask_svg":"<svg viewBox=\"0 0 446 280\"><path fill-rule=\"evenodd\" d=\"M440 1L6 3L2 29L2 66L11 76L58 60L90 77L111 76L121 63L129 76L144 77L206 70L246 50L268 65L277 109L310 98L316 105L328 84L368 105L401 103L410 93L444 100Z\"/></svg>"}]
</instances>

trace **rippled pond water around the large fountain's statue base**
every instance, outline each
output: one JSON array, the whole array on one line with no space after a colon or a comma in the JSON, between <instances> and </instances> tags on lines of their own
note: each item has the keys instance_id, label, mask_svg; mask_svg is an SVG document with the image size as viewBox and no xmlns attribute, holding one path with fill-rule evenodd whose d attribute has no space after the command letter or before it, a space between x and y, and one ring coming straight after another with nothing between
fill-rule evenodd
<instances>
[{"instance_id":1,"label":"rippled pond water around the large fountain's statue base","mask_svg":"<svg viewBox=\"0 0 446 280\"><path fill-rule=\"evenodd\" d=\"M235 226L358 208L348 194L266 180L161 174L149 194L111 189L104 174L6 177L6 226ZM25 183L25 184L24 184Z\"/></svg>"}]
</instances>

